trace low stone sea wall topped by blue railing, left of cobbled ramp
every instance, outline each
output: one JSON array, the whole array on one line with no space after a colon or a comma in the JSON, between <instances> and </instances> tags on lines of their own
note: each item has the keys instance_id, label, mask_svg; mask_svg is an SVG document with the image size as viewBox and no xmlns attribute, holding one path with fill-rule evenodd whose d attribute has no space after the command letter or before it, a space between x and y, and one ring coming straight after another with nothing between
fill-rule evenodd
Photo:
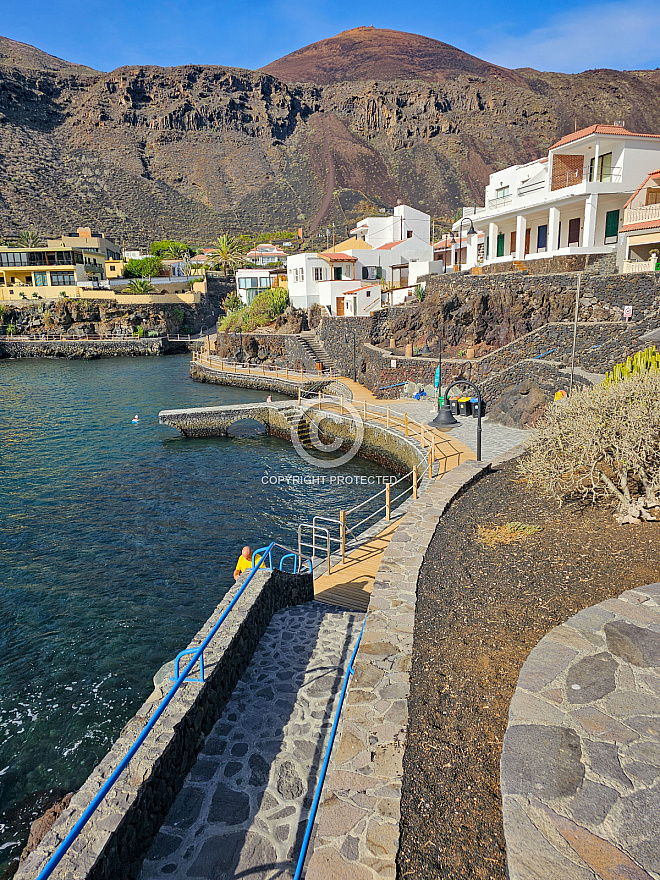
<instances>
[{"instance_id":1,"label":"low stone sea wall topped by blue railing, left of cobbled ramp","mask_svg":"<svg viewBox=\"0 0 660 880\"><path fill-rule=\"evenodd\" d=\"M195 648L227 607L233 587L188 645ZM55 880L124 880L142 858L193 766L204 737L220 716L273 614L313 598L310 574L258 573L204 653L204 684L182 685L113 790L51 875ZM185 666L181 667L182 669ZM118 740L73 796L51 831L19 867L16 880L34 880L104 780L127 753L171 687L172 664Z\"/></svg>"}]
</instances>

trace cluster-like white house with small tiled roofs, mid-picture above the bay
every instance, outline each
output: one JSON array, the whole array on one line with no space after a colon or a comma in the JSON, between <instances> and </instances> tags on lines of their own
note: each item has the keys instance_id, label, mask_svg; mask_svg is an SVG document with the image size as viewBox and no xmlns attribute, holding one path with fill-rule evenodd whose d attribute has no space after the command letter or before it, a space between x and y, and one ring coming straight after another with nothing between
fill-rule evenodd
<instances>
[{"instance_id":1,"label":"cluster-like white house with small tiled roofs, mid-picture above the bay","mask_svg":"<svg viewBox=\"0 0 660 880\"><path fill-rule=\"evenodd\" d=\"M428 214L398 205L393 216L361 220L353 237L331 250L291 255L291 304L319 303L333 315L371 314L381 306L382 283L405 287L415 261L428 266L433 260L430 223Z\"/></svg>"}]
</instances>

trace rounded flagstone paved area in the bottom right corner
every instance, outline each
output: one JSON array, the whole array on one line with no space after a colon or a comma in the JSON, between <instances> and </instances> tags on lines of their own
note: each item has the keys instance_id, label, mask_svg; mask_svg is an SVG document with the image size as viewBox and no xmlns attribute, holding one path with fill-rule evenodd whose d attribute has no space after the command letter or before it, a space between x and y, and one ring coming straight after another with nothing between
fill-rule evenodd
<instances>
[{"instance_id":1,"label":"rounded flagstone paved area in the bottom right corner","mask_svg":"<svg viewBox=\"0 0 660 880\"><path fill-rule=\"evenodd\" d=\"M530 653L501 760L510 880L660 876L660 584Z\"/></svg>"}]
</instances>

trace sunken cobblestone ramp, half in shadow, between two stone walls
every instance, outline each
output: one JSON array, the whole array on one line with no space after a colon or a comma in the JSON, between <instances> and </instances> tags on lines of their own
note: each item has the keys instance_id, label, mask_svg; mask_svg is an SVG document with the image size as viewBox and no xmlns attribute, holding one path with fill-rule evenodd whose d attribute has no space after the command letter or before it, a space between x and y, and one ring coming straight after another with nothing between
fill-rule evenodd
<instances>
[{"instance_id":1,"label":"sunken cobblestone ramp, half in shadow, between two stone walls","mask_svg":"<svg viewBox=\"0 0 660 880\"><path fill-rule=\"evenodd\" d=\"M141 880L293 876L362 618L314 602L273 617Z\"/></svg>"}]
</instances>

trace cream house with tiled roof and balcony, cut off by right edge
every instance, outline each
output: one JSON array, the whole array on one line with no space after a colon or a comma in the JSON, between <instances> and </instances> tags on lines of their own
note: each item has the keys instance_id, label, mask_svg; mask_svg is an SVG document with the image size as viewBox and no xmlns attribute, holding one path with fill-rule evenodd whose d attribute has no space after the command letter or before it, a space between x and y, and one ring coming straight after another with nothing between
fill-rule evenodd
<instances>
[{"instance_id":1,"label":"cream house with tiled roof and balcony, cut off by right edge","mask_svg":"<svg viewBox=\"0 0 660 880\"><path fill-rule=\"evenodd\" d=\"M623 209L622 272L655 272L660 267L660 168L647 175Z\"/></svg>"}]
</instances>

